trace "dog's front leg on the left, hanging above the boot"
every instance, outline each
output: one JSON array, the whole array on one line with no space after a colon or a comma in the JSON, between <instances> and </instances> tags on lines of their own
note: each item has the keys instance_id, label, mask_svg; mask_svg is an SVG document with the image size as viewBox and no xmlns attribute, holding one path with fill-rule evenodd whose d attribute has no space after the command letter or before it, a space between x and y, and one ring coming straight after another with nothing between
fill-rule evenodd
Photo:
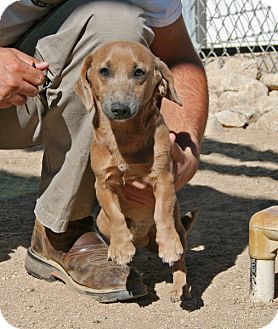
<instances>
[{"instance_id":1,"label":"dog's front leg on the left, hanging above the boot","mask_svg":"<svg viewBox=\"0 0 278 329\"><path fill-rule=\"evenodd\" d=\"M96 178L96 195L110 229L108 257L126 266L132 260L136 250L132 243L132 234L121 212L119 197L98 178Z\"/></svg>"}]
</instances>

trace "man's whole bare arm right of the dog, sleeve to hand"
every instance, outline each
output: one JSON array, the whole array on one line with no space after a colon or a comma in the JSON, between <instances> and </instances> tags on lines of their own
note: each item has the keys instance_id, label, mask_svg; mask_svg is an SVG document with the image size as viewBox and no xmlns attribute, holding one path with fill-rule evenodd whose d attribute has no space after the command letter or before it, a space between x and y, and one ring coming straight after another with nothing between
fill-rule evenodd
<instances>
[{"instance_id":1,"label":"man's whole bare arm right of the dog, sleeve to hand","mask_svg":"<svg viewBox=\"0 0 278 329\"><path fill-rule=\"evenodd\" d=\"M200 145L208 115L207 80L182 16L173 24L153 28L152 52L171 69L182 107L163 99L161 113L175 134L172 156L176 164L176 189L183 187L198 168ZM178 147L174 141L180 146Z\"/></svg>"}]
</instances>

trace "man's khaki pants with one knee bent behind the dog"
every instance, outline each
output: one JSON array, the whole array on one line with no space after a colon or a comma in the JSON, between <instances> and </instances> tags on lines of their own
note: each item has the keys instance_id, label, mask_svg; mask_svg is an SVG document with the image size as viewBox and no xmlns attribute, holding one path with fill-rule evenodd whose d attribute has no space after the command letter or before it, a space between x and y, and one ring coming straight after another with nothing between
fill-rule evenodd
<instances>
[{"instance_id":1,"label":"man's khaki pants with one knee bent behind the dog","mask_svg":"<svg viewBox=\"0 0 278 329\"><path fill-rule=\"evenodd\" d=\"M54 232L89 216L96 203L89 165L94 111L74 92L84 57L113 40L150 44L153 32L142 9L126 1L69 0L33 27L17 48L49 63L42 102L0 110L0 148L42 144L35 215Z\"/></svg>"}]
</instances>

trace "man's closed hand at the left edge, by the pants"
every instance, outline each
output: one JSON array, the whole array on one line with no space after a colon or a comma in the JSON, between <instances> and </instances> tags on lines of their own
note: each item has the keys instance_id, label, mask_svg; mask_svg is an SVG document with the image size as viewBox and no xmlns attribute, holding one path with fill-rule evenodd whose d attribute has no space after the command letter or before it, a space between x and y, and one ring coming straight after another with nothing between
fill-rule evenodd
<instances>
[{"instance_id":1,"label":"man's closed hand at the left edge, by the pants","mask_svg":"<svg viewBox=\"0 0 278 329\"><path fill-rule=\"evenodd\" d=\"M0 48L0 109L23 105L27 96L36 96L47 67L46 62L38 62L17 49Z\"/></svg>"}]
</instances>

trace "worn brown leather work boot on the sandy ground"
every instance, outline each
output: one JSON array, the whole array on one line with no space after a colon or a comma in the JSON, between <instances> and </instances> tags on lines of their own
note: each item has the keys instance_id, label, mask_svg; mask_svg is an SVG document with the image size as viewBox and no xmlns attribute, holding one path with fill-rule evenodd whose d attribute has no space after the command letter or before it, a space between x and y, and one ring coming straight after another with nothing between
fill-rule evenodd
<instances>
[{"instance_id":1,"label":"worn brown leather work boot on the sandy ground","mask_svg":"<svg viewBox=\"0 0 278 329\"><path fill-rule=\"evenodd\" d=\"M146 295L141 275L107 255L108 246L92 229L91 217L70 222L65 233L54 233L36 220L25 268L39 279L60 279L102 303Z\"/></svg>"}]
</instances>

